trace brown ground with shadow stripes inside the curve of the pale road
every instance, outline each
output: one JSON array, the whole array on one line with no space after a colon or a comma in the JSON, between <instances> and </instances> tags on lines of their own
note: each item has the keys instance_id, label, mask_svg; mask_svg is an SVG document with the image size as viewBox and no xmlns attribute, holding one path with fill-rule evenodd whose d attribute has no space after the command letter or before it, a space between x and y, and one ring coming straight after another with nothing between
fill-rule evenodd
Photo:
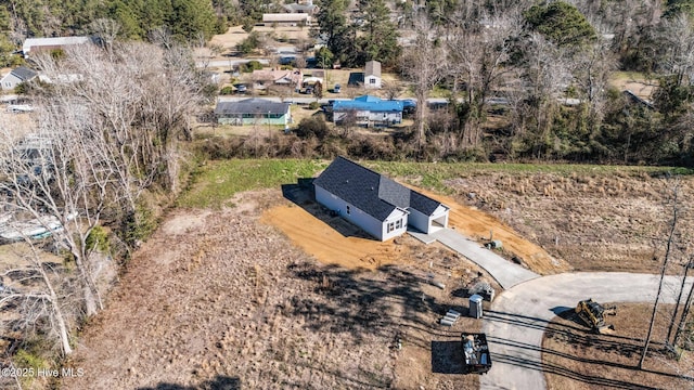
<instances>
[{"instance_id":1,"label":"brown ground with shadow stripes inside the curve of the pale road","mask_svg":"<svg viewBox=\"0 0 694 390\"><path fill-rule=\"evenodd\" d=\"M607 303L608 304L608 303ZM575 318L573 313L555 317L545 330L542 343L548 389L691 389L694 387L694 356L685 352L678 362L666 358L663 340L667 335L666 312L671 306L660 306L653 342L640 370L643 340L653 310L648 304L617 303L617 315L607 316L615 326L612 335L594 335ZM678 378L690 376L690 380Z\"/></svg>"}]
</instances>

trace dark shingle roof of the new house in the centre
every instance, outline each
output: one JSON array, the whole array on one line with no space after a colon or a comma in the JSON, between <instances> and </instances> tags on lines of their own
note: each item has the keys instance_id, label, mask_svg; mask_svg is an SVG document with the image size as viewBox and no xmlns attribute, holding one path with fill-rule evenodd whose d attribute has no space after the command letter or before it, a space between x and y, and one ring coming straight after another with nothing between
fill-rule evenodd
<instances>
[{"instance_id":1,"label":"dark shingle roof of the new house in the centre","mask_svg":"<svg viewBox=\"0 0 694 390\"><path fill-rule=\"evenodd\" d=\"M313 184L384 221L396 207L415 209L430 216L440 203L364 168L337 157Z\"/></svg>"}]
</instances>

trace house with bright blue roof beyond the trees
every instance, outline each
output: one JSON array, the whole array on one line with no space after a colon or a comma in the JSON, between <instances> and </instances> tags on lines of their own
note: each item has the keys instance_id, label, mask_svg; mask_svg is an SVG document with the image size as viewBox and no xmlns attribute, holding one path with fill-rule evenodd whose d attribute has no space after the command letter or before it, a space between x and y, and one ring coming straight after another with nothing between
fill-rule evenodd
<instances>
[{"instance_id":1,"label":"house with bright blue roof beyond the trees","mask_svg":"<svg viewBox=\"0 0 694 390\"><path fill-rule=\"evenodd\" d=\"M385 101L370 95L339 100L333 102L333 122L355 120L357 125L367 127L393 126L402 122L402 109L401 101Z\"/></svg>"}]
</instances>

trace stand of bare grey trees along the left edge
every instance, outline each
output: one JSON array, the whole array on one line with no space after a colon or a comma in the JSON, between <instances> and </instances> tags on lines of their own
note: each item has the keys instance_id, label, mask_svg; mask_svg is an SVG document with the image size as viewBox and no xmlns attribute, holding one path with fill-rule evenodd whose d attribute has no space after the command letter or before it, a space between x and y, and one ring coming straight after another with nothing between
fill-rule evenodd
<instances>
[{"instance_id":1,"label":"stand of bare grey trees along the left edge","mask_svg":"<svg viewBox=\"0 0 694 390\"><path fill-rule=\"evenodd\" d=\"M23 244L7 246L21 260L0 270L13 281L0 308L23 315L28 339L60 341L62 355L81 322L103 309L113 283L105 270L120 272L156 226L153 210L175 199L189 171L181 143L208 103L209 81L190 49L157 37L37 55L51 82L27 91L36 123L0 126L2 227Z\"/></svg>"}]
</instances>

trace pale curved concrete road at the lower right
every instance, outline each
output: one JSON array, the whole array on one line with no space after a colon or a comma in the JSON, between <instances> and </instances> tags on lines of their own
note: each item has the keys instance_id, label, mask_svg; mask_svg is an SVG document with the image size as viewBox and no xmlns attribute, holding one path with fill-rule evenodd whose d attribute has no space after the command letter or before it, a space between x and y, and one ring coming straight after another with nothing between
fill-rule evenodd
<instances>
[{"instance_id":1,"label":"pale curved concrete road at the lower right","mask_svg":"<svg viewBox=\"0 0 694 390\"><path fill-rule=\"evenodd\" d=\"M659 277L651 274L565 273L534 278L503 291L483 321L493 368L481 377L480 388L545 389L542 337L556 314L588 298L599 302L654 301L658 282ZM677 300L680 283L679 277L666 277L661 302Z\"/></svg>"}]
</instances>

